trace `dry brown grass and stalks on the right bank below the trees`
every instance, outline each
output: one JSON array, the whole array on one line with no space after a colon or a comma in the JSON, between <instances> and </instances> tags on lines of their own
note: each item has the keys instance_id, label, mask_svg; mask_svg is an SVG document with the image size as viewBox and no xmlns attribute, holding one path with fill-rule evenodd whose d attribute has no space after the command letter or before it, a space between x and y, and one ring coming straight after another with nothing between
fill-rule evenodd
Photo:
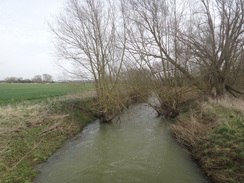
<instances>
[{"instance_id":1,"label":"dry brown grass and stalks on the right bank below the trees","mask_svg":"<svg viewBox=\"0 0 244 183\"><path fill-rule=\"evenodd\" d=\"M216 116L211 113L213 106L217 104L230 110L244 112L244 100L234 97L221 99L209 98L208 101L199 102L198 107L188 112L188 116L180 116L177 122L171 125L173 134L181 143L195 146L211 128L219 125Z\"/></svg>"}]
</instances>

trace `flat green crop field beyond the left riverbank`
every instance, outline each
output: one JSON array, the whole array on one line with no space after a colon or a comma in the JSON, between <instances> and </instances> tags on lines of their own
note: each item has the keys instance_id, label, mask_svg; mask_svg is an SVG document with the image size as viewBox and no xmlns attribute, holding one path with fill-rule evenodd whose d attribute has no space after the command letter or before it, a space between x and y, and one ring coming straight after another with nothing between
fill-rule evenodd
<instances>
[{"instance_id":1,"label":"flat green crop field beyond the left riverbank","mask_svg":"<svg viewBox=\"0 0 244 183\"><path fill-rule=\"evenodd\" d=\"M2 83L0 84L0 104L20 102L23 100L37 100L72 93L89 91L92 84L20 84Z\"/></svg>"}]
</instances>

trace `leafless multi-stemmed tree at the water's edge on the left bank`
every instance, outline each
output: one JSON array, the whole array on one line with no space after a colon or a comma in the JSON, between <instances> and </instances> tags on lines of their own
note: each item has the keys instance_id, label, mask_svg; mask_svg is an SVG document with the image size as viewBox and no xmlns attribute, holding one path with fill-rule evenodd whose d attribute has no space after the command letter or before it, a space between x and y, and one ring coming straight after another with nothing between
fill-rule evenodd
<instances>
[{"instance_id":1,"label":"leafless multi-stemmed tree at the water's edge on the left bank","mask_svg":"<svg viewBox=\"0 0 244 183\"><path fill-rule=\"evenodd\" d=\"M123 18L118 20L116 10L110 1L70 0L57 24L51 26L59 58L92 76L104 121L109 120L109 111L115 109L112 93L119 80L126 41Z\"/></svg>"}]
</instances>

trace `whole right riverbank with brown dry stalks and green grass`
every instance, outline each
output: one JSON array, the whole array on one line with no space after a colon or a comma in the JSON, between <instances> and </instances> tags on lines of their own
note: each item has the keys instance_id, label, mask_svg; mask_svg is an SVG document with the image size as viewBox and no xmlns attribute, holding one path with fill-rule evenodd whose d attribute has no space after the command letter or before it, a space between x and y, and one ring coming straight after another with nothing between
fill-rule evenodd
<instances>
[{"instance_id":1,"label":"whole right riverbank with brown dry stalks and green grass","mask_svg":"<svg viewBox=\"0 0 244 183\"><path fill-rule=\"evenodd\" d=\"M171 126L213 182L244 182L244 100L225 98L193 104Z\"/></svg>"}]
</instances>

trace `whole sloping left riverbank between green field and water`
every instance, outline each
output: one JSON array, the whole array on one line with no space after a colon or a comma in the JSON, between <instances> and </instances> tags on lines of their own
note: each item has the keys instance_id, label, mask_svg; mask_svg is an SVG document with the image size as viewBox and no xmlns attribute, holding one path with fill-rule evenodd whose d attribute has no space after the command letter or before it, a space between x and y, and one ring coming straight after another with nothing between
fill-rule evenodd
<instances>
[{"instance_id":1,"label":"whole sloping left riverbank between green field and water","mask_svg":"<svg viewBox=\"0 0 244 183\"><path fill-rule=\"evenodd\" d=\"M69 97L0 106L0 182L31 182L36 165L95 119L92 100Z\"/></svg>"}]
</instances>

